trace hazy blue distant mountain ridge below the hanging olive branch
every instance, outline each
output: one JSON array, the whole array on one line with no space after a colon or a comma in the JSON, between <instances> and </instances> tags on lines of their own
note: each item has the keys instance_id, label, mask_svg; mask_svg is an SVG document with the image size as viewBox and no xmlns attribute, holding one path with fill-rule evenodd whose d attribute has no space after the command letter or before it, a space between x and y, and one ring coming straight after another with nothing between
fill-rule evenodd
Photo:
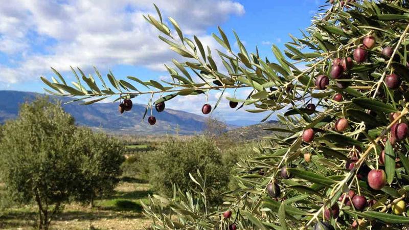
<instances>
[{"instance_id":1,"label":"hazy blue distant mountain ridge below the hanging olive branch","mask_svg":"<svg viewBox=\"0 0 409 230\"><path fill-rule=\"evenodd\" d=\"M33 101L41 94L23 91L0 90L0 122L14 119L18 114L20 104ZM72 98L54 97L63 102ZM142 121L145 105L133 104L132 110L120 114L118 103L95 103L92 105L79 105L80 102L63 104L66 112L70 113L78 125L93 127L115 133L129 134L165 134L175 133L193 134L205 128L206 118L193 113L166 108L158 113L153 109L156 125L149 125L146 118Z\"/></svg>"}]
</instances>

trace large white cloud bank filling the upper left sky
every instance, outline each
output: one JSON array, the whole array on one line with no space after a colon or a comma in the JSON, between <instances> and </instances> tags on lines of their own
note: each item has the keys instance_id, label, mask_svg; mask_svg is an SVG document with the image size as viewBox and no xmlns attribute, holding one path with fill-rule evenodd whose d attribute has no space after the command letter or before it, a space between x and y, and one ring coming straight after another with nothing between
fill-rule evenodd
<instances>
[{"instance_id":1,"label":"large white cloud bank filling the upper left sky","mask_svg":"<svg viewBox=\"0 0 409 230\"><path fill-rule=\"evenodd\" d=\"M206 29L245 12L234 0L155 2L163 16L174 17L187 35L197 34L212 45ZM156 15L152 4L150 0L17 0L0 5L0 52L17 60L12 67L0 66L0 81L49 76L49 66L68 71L70 65L104 69L131 64L164 70L163 63L176 55L143 18Z\"/></svg>"}]
</instances>

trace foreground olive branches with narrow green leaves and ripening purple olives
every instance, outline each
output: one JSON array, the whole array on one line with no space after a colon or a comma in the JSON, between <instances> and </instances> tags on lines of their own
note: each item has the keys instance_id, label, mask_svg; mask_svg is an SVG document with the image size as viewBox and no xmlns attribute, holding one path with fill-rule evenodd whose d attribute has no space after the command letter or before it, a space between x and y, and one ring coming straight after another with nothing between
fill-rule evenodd
<instances>
[{"instance_id":1,"label":"foreground olive branches with narrow green leaves and ripening purple olives","mask_svg":"<svg viewBox=\"0 0 409 230\"><path fill-rule=\"evenodd\" d=\"M128 77L135 82L134 86L109 73L111 86L103 83L100 89L93 78L85 76L86 84L81 86L78 82L74 87L66 85L58 73L59 81L42 80L54 89L50 93L93 99L86 104L109 96L133 98L151 94L148 107L156 94L165 95L155 101L158 103L179 96L208 94L211 90L221 91L223 95L231 88L251 88L249 95L228 99L239 102L239 108L246 106L248 112L266 112L263 121L277 111L284 112L277 114L277 118L285 128L269 129L280 133L266 137L270 142L257 149L258 156L246 159L239 167L240 190L225 198L239 228L311 228L325 218L322 215L325 209L337 203L348 190L362 195L363 199L374 200L375 204L371 202L373 205L358 210L354 205L344 205L347 198L344 196L339 203L339 217L326 218L331 225L347 229L355 220L361 224L360 228L401 228L409 218L391 213L390 208L402 199L407 201L409 190L407 126L401 125L406 122L409 106L409 6L403 0L330 2L333 4L323 6L321 13L314 16L312 26L301 38L291 36L284 54L272 45L275 61L259 57L257 49L249 54L234 33L239 48L236 52L228 36L218 28L220 35L213 37L225 50L217 51L223 64L217 65L210 48L203 47L196 36L185 37L172 18L169 23L163 21L156 8L158 19L151 15L146 19L162 32L160 39L184 58L183 63L173 60L177 71L166 66L173 82L143 82ZM355 61L350 63L348 57ZM343 65L336 58L347 62ZM195 82L192 75L200 80ZM140 91L137 89L140 85L151 90ZM333 100L335 94L342 97L337 95ZM316 109L307 107L309 103ZM400 113L390 116L391 112ZM339 126L337 121L342 118L346 120ZM395 123L401 123L399 133L396 131L399 126L393 126ZM304 130L308 131L304 134ZM378 159L383 148L385 162L381 164ZM312 158L304 158L305 153L312 154ZM293 178L283 178L288 174L279 176L283 166L287 166ZM255 173L260 169L264 173ZM367 183L371 169L384 169L387 173L388 183L381 190L373 190ZM275 192L276 187L282 192ZM268 188L273 189L267 193ZM201 200L199 191L196 198ZM220 218L224 210L211 213L195 210L196 198L192 196L179 192L173 198L156 197L145 210L157 220L154 225L162 229L210 229L231 221ZM164 211L166 205L177 218L168 216Z\"/></svg>"}]
</instances>

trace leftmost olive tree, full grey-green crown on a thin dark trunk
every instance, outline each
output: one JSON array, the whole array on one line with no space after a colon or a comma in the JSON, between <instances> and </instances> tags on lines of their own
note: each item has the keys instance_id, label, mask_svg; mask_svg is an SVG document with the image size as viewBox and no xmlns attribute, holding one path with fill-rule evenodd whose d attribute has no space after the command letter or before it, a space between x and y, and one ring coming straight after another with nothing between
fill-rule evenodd
<instances>
[{"instance_id":1,"label":"leftmost olive tree, full grey-green crown on a thin dark trunk","mask_svg":"<svg viewBox=\"0 0 409 230\"><path fill-rule=\"evenodd\" d=\"M2 181L14 199L37 203L40 229L48 229L73 191L75 129L70 114L48 98L22 104L17 119L3 126Z\"/></svg>"}]
</instances>

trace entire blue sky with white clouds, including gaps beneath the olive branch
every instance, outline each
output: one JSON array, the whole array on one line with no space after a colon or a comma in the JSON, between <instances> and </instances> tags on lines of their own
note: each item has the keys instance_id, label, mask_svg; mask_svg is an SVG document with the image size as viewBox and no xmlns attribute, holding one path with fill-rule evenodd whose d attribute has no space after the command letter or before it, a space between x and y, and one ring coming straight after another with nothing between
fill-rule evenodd
<instances>
[{"instance_id":1,"label":"entire blue sky with white clouds, including gaps beneath the olive branch","mask_svg":"<svg viewBox=\"0 0 409 230\"><path fill-rule=\"evenodd\" d=\"M96 65L103 75L112 70L118 78L167 79L163 63L177 58L157 39L157 31L142 17L155 14L153 3L172 16L187 36L219 48L211 38L221 26L234 41L234 29L247 51L256 45L261 56L272 58L271 44L282 50L291 33L310 25L324 0L17 0L0 6L0 89L44 93L39 76L53 76L57 68L70 81L70 65L86 74ZM233 43L233 42L232 42ZM180 60L180 58L178 58ZM245 97L239 92L237 97ZM230 92L232 94L232 92ZM210 95L215 103L220 94ZM177 98L167 107L199 114L203 97ZM146 103L146 98L138 99ZM234 112L226 101L217 116L224 120L260 120L263 114Z\"/></svg>"}]
</instances>

